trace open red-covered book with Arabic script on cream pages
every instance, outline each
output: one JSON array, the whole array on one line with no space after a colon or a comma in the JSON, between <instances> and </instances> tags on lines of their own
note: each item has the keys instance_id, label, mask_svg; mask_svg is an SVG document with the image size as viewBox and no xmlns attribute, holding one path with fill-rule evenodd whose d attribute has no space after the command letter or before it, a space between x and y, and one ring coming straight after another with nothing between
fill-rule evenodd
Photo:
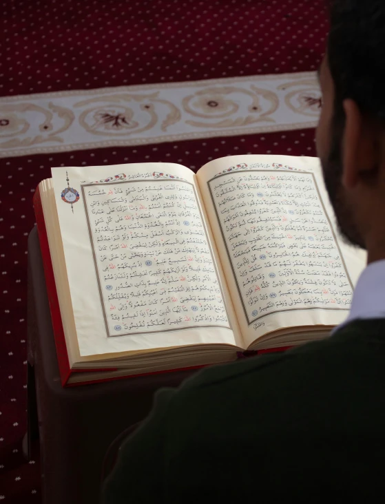
<instances>
[{"instance_id":1,"label":"open red-covered book with Arabic script on cream pages","mask_svg":"<svg viewBox=\"0 0 385 504\"><path fill-rule=\"evenodd\" d=\"M326 337L366 259L317 158L52 168L34 207L67 385Z\"/></svg>"}]
</instances>

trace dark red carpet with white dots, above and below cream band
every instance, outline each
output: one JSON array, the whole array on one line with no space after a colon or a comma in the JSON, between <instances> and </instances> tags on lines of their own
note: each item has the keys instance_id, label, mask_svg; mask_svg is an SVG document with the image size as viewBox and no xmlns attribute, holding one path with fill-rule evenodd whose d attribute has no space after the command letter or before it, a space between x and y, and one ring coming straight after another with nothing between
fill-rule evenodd
<instances>
[{"instance_id":1,"label":"dark red carpet with white dots, above and below cream band","mask_svg":"<svg viewBox=\"0 0 385 504\"><path fill-rule=\"evenodd\" d=\"M8 0L1 96L309 72L327 31L323 0ZM23 97L25 100L25 97ZM23 127L0 102L1 145ZM26 462L27 238L32 194L50 167L169 161L198 169L229 154L314 156L313 129L0 158L0 501L41 501Z\"/></svg>"}]
</instances>

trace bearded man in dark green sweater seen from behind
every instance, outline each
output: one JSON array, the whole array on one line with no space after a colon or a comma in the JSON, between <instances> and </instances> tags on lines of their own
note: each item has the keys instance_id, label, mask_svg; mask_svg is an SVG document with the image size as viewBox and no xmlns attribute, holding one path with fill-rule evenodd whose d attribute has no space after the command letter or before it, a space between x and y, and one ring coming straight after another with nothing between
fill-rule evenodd
<instances>
[{"instance_id":1,"label":"bearded man in dark green sweater seen from behind","mask_svg":"<svg viewBox=\"0 0 385 504\"><path fill-rule=\"evenodd\" d=\"M384 76L385 1L335 1L316 140L340 229L368 251L348 320L322 342L161 390L105 503L385 498Z\"/></svg>"}]
</instances>

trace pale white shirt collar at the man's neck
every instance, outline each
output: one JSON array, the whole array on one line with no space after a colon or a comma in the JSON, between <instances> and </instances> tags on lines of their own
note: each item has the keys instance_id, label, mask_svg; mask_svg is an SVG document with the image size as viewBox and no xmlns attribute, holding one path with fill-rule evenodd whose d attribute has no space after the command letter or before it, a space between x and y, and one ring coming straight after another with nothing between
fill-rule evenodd
<instances>
[{"instance_id":1,"label":"pale white shirt collar at the man's neck","mask_svg":"<svg viewBox=\"0 0 385 504\"><path fill-rule=\"evenodd\" d=\"M372 262L361 273L348 318L332 334L356 319L385 319L385 260Z\"/></svg>"}]
</instances>

